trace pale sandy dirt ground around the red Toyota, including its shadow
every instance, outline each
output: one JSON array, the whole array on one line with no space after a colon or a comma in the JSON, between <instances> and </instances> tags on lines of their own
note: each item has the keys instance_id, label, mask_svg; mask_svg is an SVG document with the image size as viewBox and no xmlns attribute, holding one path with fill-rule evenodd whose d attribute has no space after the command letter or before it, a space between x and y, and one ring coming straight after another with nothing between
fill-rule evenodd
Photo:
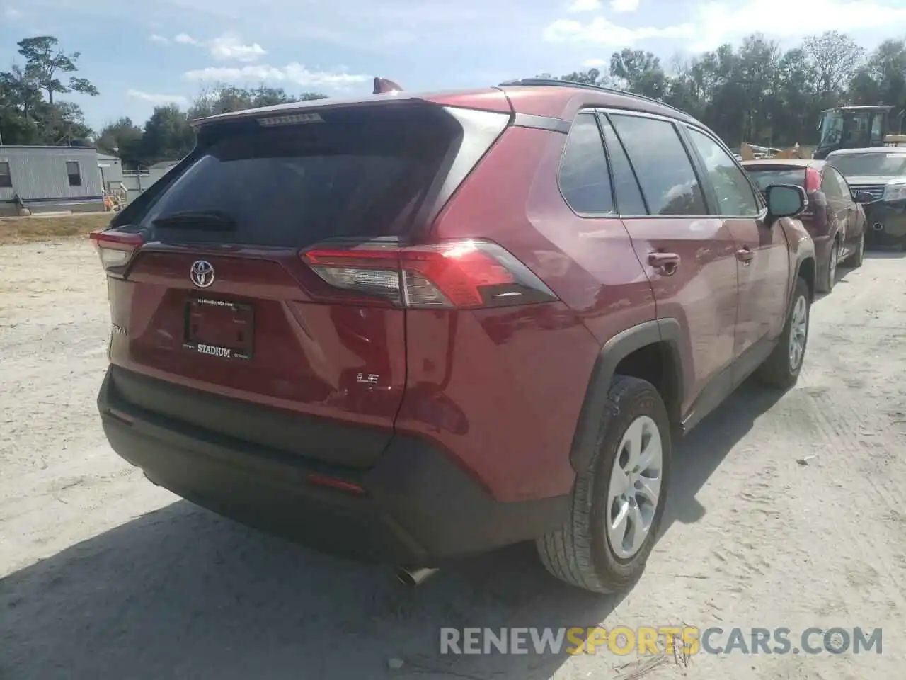
<instances>
[{"instance_id":1,"label":"pale sandy dirt ground around the red Toyota, including its shadow","mask_svg":"<svg viewBox=\"0 0 906 680\"><path fill-rule=\"evenodd\" d=\"M906 259L816 302L805 371L744 386L675 452L641 582L595 597L519 546L415 590L245 529L104 442L105 283L85 241L0 247L0 677L901 677ZM801 462L797 462L801 461ZM882 654L441 656L440 626L883 628ZM388 659L402 666L388 667ZM394 664L399 665L399 664ZM634 674L634 675L633 675Z\"/></svg>"}]
</instances>

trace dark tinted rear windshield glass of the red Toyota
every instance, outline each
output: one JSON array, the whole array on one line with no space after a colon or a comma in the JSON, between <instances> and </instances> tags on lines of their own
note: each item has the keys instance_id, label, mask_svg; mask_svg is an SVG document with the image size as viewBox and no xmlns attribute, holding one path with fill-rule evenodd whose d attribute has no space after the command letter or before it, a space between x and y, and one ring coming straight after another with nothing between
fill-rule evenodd
<instances>
[{"instance_id":1,"label":"dark tinted rear windshield glass of the red Toyota","mask_svg":"<svg viewBox=\"0 0 906 680\"><path fill-rule=\"evenodd\" d=\"M452 119L424 106L324 119L249 121L226 134L161 192L141 226L167 241L296 248L404 234L456 134ZM185 213L202 219L174 219Z\"/></svg>"}]
</instances>

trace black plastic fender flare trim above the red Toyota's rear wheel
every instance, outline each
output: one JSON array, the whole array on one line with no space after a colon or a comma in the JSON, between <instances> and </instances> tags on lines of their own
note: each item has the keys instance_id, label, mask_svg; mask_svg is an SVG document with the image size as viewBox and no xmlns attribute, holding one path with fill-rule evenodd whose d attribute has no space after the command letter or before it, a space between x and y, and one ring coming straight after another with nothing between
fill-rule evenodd
<instances>
[{"instance_id":1,"label":"black plastic fender flare trim above the red Toyota's rear wheel","mask_svg":"<svg viewBox=\"0 0 906 680\"><path fill-rule=\"evenodd\" d=\"M679 404L691 382L691 366L688 365L689 360L683 358L685 339L682 327L674 318L654 319L633 325L604 343L594 362L570 451L570 463L577 473L587 470L592 463L601 415L617 365L636 350L657 343L662 343L664 350L671 355L670 364L674 368L674 374L668 377L673 382L676 403L668 404L668 412L671 421L679 423Z\"/></svg>"}]
</instances>

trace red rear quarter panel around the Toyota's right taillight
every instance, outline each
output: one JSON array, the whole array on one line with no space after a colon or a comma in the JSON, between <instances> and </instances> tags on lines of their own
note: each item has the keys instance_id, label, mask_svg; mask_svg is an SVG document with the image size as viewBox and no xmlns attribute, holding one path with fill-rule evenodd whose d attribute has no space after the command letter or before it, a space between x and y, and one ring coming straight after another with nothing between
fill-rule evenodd
<instances>
[{"instance_id":1,"label":"red rear quarter panel around the Toyota's right taillight","mask_svg":"<svg viewBox=\"0 0 906 680\"><path fill-rule=\"evenodd\" d=\"M397 428L455 452L498 500L571 491L569 454L602 345L596 335L653 317L644 275L632 273L625 286L623 265L611 265L612 257L635 258L622 222L578 219L564 206L556 187L564 141L553 131L508 129L433 234L495 240L562 302L407 312L408 380Z\"/></svg>"}]
</instances>

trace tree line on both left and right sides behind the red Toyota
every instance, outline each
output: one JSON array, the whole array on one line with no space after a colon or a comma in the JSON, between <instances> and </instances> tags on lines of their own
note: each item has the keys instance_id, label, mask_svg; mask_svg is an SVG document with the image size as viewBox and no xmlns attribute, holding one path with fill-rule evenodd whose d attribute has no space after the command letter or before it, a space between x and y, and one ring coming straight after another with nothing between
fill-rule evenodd
<instances>
[{"instance_id":1,"label":"tree line on both left and right sides behind the red Toyota","mask_svg":"<svg viewBox=\"0 0 906 680\"><path fill-rule=\"evenodd\" d=\"M191 150L195 140L189 121L194 118L325 96L223 84L200 93L185 109L157 106L141 125L123 117L92 131L81 107L61 99L70 92L99 94L76 75L79 53L66 53L50 35L25 38L17 47L23 63L0 72L0 140L5 144L93 143L130 163L149 165ZM695 57L674 57L667 65L651 52L624 49L612 53L602 68L559 78L666 102L703 121L729 146L740 141L811 145L824 109L886 103L896 112L906 110L906 41L886 40L869 53L848 35L829 31L784 50L764 34L751 34L736 47L724 44Z\"/></svg>"}]
</instances>

